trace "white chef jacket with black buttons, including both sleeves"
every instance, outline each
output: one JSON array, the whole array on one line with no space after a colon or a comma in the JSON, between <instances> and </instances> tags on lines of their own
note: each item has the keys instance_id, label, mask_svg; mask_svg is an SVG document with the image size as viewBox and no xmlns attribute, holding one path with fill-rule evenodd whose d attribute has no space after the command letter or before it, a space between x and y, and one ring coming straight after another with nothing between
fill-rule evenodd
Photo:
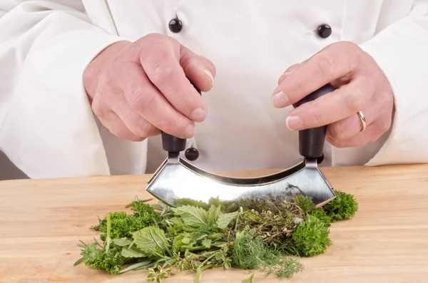
<instances>
[{"instance_id":1,"label":"white chef jacket with black buttons, including both sleeves","mask_svg":"<svg viewBox=\"0 0 428 283\"><path fill-rule=\"evenodd\" d=\"M178 18L183 29L168 29ZM322 38L317 28L332 34ZM82 73L106 46L171 36L215 64L208 117L188 140L209 171L288 168L302 157L292 107L271 95L286 68L327 44L353 41L392 85L392 128L375 143L325 143L322 165L428 161L427 0L0 0L0 150L29 177L150 173L159 137L116 138L91 111Z\"/></svg>"}]
</instances>

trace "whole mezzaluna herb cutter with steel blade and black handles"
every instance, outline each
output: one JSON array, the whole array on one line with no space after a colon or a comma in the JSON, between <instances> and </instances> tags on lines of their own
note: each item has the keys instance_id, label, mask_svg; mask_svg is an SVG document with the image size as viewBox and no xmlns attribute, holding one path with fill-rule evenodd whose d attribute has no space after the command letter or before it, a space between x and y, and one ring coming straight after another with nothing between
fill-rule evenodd
<instances>
[{"instance_id":1,"label":"whole mezzaluna herb cutter with steel blade and black handles","mask_svg":"<svg viewBox=\"0 0 428 283\"><path fill-rule=\"evenodd\" d=\"M327 84L293 104L293 107L334 90ZM302 162L272 175L247 178L213 174L188 163L180 158L186 140L161 132L163 150L168 151L168 158L148 180L146 190L172 207L188 200L205 204L216 200L217 203L239 205L243 202L287 200L287 197L295 195L310 197L316 207L320 207L335 198L330 182L318 168L324 157L326 130L327 125L299 131Z\"/></svg>"}]
</instances>

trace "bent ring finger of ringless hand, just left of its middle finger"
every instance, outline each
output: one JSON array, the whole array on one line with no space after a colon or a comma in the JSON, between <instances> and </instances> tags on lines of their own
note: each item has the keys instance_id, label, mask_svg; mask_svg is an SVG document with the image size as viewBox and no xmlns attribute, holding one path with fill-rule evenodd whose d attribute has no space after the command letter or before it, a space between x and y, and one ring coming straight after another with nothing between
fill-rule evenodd
<instances>
[{"instance_id":1,"label":"bent ring finger of ringless hand, just left of its middle finger","mask_svg":"<svg viewBox=\"0 0 428 283\"><path fill-rule=\"evenodd\" d=\"M124 95L116 99L116 103L113 104L112 110L126 125L126 128L138 137L148 138L161 133L158 128L148 122L148 120L143 118L143 116L138 114L136 110L129 105Z\"/></svg>"}]
</instances>

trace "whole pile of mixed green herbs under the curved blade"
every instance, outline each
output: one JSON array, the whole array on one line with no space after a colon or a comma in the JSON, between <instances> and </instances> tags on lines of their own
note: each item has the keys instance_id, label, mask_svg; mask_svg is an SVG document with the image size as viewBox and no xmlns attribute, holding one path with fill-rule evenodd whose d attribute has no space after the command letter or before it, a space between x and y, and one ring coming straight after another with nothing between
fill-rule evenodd
<instances>
[{"instance_id":1,"label":"whole pile of mixed green herbs under the curved blade","mask_svg":"<svg viewBox=\"0 0 428 283\"><path fill-rule=\"evenodd\" d=\"M304 269L296 256L325 252L332 245L331 222L355 215L354 197L340 191L336 195L319 208L304 195L238 202L211 198L208 204L178 200L175 208L131 202L127 207L132 214L113 212L98 218L93 229L101 232L103 244L82 242L83 257L75 264L83 262L109 274L146 269L146 282L193 270L198 283L204 270L213 267L292 277ZM243 282L252 283L253 277L254 273Z\"/></svg>"}]
</instances>

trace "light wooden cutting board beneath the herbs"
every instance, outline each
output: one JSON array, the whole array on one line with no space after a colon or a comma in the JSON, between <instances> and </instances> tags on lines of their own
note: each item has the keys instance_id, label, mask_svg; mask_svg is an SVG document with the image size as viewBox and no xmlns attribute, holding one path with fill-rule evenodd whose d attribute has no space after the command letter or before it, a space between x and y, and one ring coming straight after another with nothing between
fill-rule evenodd
<instances>
[{"instance_id":1,"label":"light wooden cutting board beneath the herbs","mask_svg":"<svg viewBox=\"0 0 428 283\"><path fill-rule=\"evenodd\" d=\"M302 259L292 279L257 273L264 282L428 282L428 165L322 168L338 190L360 204L352 220L332 225L333 245ZM273 171L236 172L255 176ZM108 275L73 267L78 240L98 237L89 227L97 215L124 210L144 191L148 175L0 182L0 282L143 283L146 272ZM210 269L201 283L240 283L249 271ZM183 273L163 282L194 282Z\"/></svg>"}]
</instances>

